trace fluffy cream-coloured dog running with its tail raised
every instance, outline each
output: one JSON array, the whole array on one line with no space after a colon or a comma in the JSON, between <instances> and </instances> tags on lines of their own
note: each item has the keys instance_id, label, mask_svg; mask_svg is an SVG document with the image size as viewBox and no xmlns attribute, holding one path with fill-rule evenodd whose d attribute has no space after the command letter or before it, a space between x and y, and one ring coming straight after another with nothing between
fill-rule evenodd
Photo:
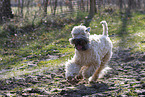
<instances>
[{"instance_id":1,"label":"fluffy cream-coloured dog running with its tail raised","mask_svg":"<svg viewBox=\"0 0 145 97\"><path fill-rule=\"evenodd\" d=\"M82 25L72 29L72 38L69 41L75 47L75 55L65 64L68 81L83 78L94 82L100 78L102 72L110 69L107 62L112 56L113 45L108 37L107 22L100 23L103 26L102 35L90 35L91 28Z\"/></svg>"}]
</instances>

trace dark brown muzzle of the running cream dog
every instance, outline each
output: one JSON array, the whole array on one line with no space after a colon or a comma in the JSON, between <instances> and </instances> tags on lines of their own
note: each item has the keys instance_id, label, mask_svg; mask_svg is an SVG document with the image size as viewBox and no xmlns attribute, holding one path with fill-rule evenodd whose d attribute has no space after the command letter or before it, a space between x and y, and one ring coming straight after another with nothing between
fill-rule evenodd
<instances>
[{"instance_id":1,"label":"dark brown muzzle of the running cream dog","mask_svg":"<svg viewBox=\"0 0 145 97\"><path fill-rule=\"evenodd\" d=\"M71 43L75 45L77 50L87 50L89 48L89 41L87 38L72 38Z\"/></svg>"}]
</instances>

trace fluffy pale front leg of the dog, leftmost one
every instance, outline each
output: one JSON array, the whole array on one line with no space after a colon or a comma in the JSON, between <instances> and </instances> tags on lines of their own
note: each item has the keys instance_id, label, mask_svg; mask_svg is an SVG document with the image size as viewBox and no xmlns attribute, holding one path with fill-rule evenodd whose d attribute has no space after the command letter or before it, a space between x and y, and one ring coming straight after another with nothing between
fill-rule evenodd
<instances>
[{"instance_id":1,"label":"fluffy pale front leg of the dog, leftmost one","mask_svg":"<svg viewBox=\"0 0 145 97\"><path fill-rule=\"evenodd\" d=\"M71 60L68 61L65 66L66 66L65 76L67 80L71 80L72 78L75 78L75 76L79 74L79 71L81 69L80 65L71 62Z\"/></svg>"}]
</instances>

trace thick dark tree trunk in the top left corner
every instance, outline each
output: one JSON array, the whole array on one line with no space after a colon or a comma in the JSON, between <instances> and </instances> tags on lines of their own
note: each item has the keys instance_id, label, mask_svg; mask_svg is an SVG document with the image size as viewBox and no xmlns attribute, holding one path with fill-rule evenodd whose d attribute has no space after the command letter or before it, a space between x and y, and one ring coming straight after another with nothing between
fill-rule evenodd
<instances>
[{"instance_id":1,"label":"thick dark tree trunk in the top left corner","mask_svg":"<svg viewBox=\"0 0 145 97\"><path fill-rule=\"evenodd\" d=\"M0 0L0 22L6 18L13 18L10 0Z\"/></svg>"}]
</instances>

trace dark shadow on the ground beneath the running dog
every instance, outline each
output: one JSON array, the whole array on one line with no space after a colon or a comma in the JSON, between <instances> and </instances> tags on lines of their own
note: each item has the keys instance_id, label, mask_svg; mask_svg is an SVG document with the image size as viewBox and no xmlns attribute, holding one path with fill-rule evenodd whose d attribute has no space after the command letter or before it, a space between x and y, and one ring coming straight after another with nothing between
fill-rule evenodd
<instances>
[{"instance_id":1,"label":"dark shadow on the ground beneath the running dog","mask_svg":"<svg viewBox=\"0 0 145 97\"><path fill-rule=\"evenodd\" d=\"M85 95L92 95L92 94L96 94L97 96L101 96L102 92L108 91L109 90L109 86L106 83L103 82L97 82L91 85L87 85L87 84L78 84L76 86L77 89L74 90L62 90L60 92L60 95L63 96L72 96L72 97L82 97Z\"/></svg>"}]
</instances>

